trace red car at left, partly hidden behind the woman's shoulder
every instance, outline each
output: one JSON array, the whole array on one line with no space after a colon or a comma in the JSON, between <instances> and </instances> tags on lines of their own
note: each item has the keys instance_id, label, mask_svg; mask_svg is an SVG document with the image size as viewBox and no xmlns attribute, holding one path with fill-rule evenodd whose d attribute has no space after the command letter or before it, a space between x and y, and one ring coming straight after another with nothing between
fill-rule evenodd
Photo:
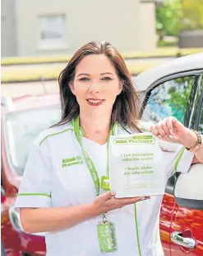
<instances>
[{"instance_id":1,"label":"red car at left, partly hidden behind the woman's shoulder","mask_svg":"<svg viewBox=\"0 0 203 256\"><path fill-rule=\"evenodd\" d=\"M13 209L30 146L60 119L58 94L2 97L1 255L45 255L44 234L27 234Z\"/></svg>"}]
</instances>

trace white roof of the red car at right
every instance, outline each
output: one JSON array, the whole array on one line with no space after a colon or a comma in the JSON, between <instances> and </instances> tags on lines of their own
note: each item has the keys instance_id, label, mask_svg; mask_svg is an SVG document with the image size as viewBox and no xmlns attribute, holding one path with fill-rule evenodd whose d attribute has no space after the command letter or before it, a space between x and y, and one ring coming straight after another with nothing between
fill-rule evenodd
<instances>
[{"instance_id":1,"label":"white roof of the red car at right","mask_svg":"<svg viewBox=\"0 0 203 256\"><path fill-rule=\"evenodd\" d=\"M136 78L134 78L134 81L138 90L145 91L160 78L167 77L174 73L182 73L196 69L203 70L203 52L168 60L168 62L164 64L159 64L152 69L147 69L138 74Z\"/></svg>"}]
</instances>

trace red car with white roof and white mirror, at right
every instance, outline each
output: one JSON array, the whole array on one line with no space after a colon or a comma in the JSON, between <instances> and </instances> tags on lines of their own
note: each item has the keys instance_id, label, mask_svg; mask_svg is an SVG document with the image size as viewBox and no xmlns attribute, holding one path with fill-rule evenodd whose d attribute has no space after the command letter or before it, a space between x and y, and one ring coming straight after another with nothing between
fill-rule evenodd
<instances>
[{"instance_id":1,"label":"red car with white roof and white mirror, at right","mask_svg":"<svg viewBox=\"0 0 203 256\"><path fill-rule=\"evenodd\" d=\"M203 53L148 69L134 78L142 92L141 118L175 116L203 134ZM203 255L203 164L168 179L159 215L165 256Z\"/></svg>"}]
</instances>

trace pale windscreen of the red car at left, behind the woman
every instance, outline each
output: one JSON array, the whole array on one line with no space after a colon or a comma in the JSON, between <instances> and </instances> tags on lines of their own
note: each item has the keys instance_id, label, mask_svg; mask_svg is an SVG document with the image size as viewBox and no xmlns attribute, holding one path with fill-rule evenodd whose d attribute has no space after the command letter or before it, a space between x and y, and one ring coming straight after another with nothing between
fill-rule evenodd
<instances>
[{"instance_id":1,"label":"pale windscreen of the red car at left, behind the woman","mask_svg":"<svg viewBox=\"0 0 203 256\"><path fill-rule=\"evenodd\" d=\"M7 156L18 175L22 175L31 145L45 129L60 119L58 106L14 111L6 116L5 139Z\"/></svg>"}]
</instances>

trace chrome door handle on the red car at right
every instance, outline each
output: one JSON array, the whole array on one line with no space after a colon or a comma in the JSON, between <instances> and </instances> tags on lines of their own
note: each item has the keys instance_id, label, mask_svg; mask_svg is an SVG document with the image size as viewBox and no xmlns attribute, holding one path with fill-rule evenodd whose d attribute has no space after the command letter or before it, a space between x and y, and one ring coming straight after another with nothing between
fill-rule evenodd
<instances>
[{"instance_id":1,"label":"chrome door handle on the red car at right","mask_svg":"<svg viewBox=\"0 0 203 256\"><path fill-rule=\"evenodd\" d=\"M191 237L182 237L182 232L174 231L171 234L171 239L173 243L181 245L183 247L186 247L189 249L196 248L196 240Z\"/></svg>"}]
</instances>

